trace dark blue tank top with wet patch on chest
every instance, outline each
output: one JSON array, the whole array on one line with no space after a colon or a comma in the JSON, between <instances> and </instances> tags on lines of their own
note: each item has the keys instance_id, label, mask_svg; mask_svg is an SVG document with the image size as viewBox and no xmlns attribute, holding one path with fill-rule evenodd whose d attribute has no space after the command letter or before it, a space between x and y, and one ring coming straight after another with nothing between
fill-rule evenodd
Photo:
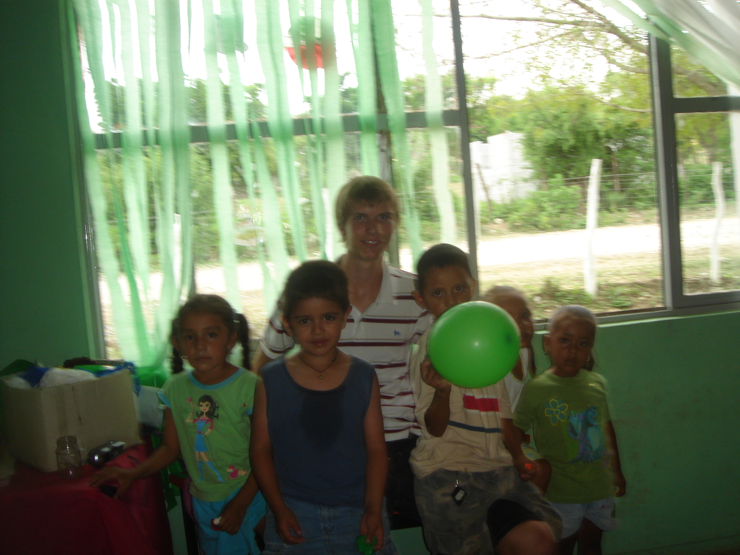
<instances>
[{"instance_id":1,"label":"dark blue tank top with wet patch on chest","mask_svg":"<svg viewBox=\"0 0 740 555\"><path fill-rule=\"evenodd\" d=\"M363 507L373 366L352 357L343 383L329 391L299 386L282 357L260 375L280 492L321 505Z\"/></svg>"}]
</instances>

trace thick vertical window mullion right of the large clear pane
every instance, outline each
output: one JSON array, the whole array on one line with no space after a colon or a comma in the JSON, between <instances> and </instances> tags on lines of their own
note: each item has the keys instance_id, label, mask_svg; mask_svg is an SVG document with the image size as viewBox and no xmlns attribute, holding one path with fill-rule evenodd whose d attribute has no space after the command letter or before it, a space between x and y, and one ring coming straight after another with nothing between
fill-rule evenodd
<instances>
[{"instance_id":1,"label":"thick vertical window mullion right of the large clear pane","mask_svg":"<svg viewBox=\"0 0 740 555\"><path fill-rule=\"evenodd\" d=\"M653 93L655 159L658 174L658 210L662 239L663 289L665 306L670 310L685 306L670 44L653 35L650 35L648 41L650 84Z\"/></svg>"}]
</instances>

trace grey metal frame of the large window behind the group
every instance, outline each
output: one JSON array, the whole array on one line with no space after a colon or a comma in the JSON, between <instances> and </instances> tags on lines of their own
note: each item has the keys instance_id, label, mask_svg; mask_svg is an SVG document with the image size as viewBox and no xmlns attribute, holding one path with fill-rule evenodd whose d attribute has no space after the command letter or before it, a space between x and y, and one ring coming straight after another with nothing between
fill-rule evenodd
<instances>
[{"instance_id":1,"label":"grey metal frame of the large window behind the group","mask_svg":"<svg viewBox=\"0 0 740 555\"><path fill-rule=\"evenodd\" d=\"M474 221L473 176L468 127L467 98L465 86L465 67L462 55L462 30L459 0L450 0L452 40L454 46L455 80L457 87L457 110L443 111L445 127L459 127L460 155L462 158L462 179L465 190L465 217ZM74 40L74 38L73 38ZM636 311L609 312L597 317L599 323L621 323L662 317L679 317L709 312L727 312L740 309L740 290L685 295L683 292L683 265L681 258L681 226L679 206L678 172L676 167L676 124L675 115L695 112L729 112L740 110L740 96L675 97L673 95L673 75L670 66L670 44L662 38L648 35L647 55L650 74L650 90L653 102L653 136L655 145L655 173L659 226L662 249L663 293L665 306ZM76 84L80 86L80 84ZM306 127L312 118L295 118L293 135L305 135ZM342 115L344 132L360 131L357 114ZM386 114L376 116L378 131L388 129ZM269 137L266 121L259 122L260 136ZM423 111L406 112L407 129L424 129L426 114ZM191 143L208 142L206 124L190 124ZM95 149L121 147L121 132L96 133ZM250 130L251 136L251 130ZM142 145L147 136L142 130ZM226 139L236 139L234 124L226 124ZM112 144L110 144L112 142ZM158 143L155 132L155 142ZM86 211L87 212L87 211ZM468 249L471 272L477 279L477 237L474 226L467 225ZM90 238L90 235L88 235ZM86 241L87 250L94 258L94 246ZM397 243L396 243L397 248ZM391 259L394 253L391 253ZM397 259L397 253L396 253ZM536 324L543 329L544 320Z\"/></svg>"}]
</instances>

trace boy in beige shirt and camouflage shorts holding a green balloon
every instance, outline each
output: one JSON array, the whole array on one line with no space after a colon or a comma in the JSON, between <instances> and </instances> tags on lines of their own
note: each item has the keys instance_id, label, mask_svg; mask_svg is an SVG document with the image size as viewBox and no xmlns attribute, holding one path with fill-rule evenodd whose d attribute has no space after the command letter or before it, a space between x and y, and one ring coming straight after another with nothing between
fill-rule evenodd
<instances>
[{"instance_id":1,"label":"boy in beige shirt and camouflage shorts holding a green balloon","mask_svg":"<svg viewBox=\"0 0 740 555\"><path fill-rule=\"evenodd\" d=\"M435 319L474 297L476 283L467 255L455 246L440 244L428 249L417 264L417 274L414 299ZM509 319L505 313L503 317ZM464 327L470 329L472 320ZM516 357L519 337L514 323L507 322L511 328L490 341L513 344ZM427 358L430 332L428 329L420 337L409 367L415 414L422 428L411 465L428 548L432 554L445 555L493 554L494 549L499 555L553 554L560 520L529 482L536 467L522 454L514 434L503 381L480 386L473 383L475 372L464 365L457 373L446 372L462 386L445 380ZM447 358L462 360L485 341L458 337L453 343L444 346ZM440 345L437 340L437 348ZM505 358L511 358L510 354L508 349ZM507 360L505 365L514 366L515 362L512 359L509 365ZM510 369L503 369L504 374ZM463 383L466 380L468 383ZM489 515L491 505L499 499L517 507L508 522Z\"/></svg>"}]
</instances>

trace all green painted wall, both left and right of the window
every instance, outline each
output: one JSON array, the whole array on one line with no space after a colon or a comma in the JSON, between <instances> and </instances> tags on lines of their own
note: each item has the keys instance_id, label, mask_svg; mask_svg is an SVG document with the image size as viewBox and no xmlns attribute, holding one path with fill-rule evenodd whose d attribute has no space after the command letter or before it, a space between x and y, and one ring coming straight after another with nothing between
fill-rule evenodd
<instances>
[{"instance_id":1,"label":"all green painted wall, both left and right of the window","mask_svg":"<svg viewBox=\"0 0 740 555\"><path fill-rule=\"evenodd\" d=\"M0 366L95 354L63 5L0 2ZM605 553L740 547L739 330L740 312L599 329L628 479Z\"/></svg>"}]
</instances>

